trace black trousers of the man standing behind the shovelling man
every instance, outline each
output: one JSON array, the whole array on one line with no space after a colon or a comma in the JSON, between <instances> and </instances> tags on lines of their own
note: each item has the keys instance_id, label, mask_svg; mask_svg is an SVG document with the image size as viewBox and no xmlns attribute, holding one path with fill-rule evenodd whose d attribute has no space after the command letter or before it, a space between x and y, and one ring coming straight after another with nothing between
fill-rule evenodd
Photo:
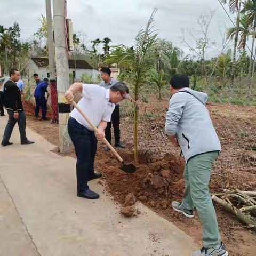
<instances>
[{"instance_id":1,"label":"black trousers of the man standing behind the shovelling man","mask_svg":"<svg viewBox=\"0 0 256 256\"><path fill-rule=\"evenodd\" d=\"M111 115L111 121L108 122L106 130L105 130L105 135L107 141L111 144L111 123L113 124L114 127L114 137L115 137L115 143L120 142L120 109L119 105L116 105L112 115Z\"/></svg>"}]
</instances>

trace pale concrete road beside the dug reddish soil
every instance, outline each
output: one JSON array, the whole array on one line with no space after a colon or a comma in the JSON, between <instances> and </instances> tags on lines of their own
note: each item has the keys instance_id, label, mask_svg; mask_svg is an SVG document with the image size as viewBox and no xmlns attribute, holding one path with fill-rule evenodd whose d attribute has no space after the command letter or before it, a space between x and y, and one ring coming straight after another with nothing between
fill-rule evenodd
<instances>
[{"instance_id":1,"label":"pale concrete road beside the dug reddish soil","mask_svg":"<svg viewBox=\"0 0 256 256\"><path fill-rule=\"evenodd\" d=\"M2 138L7 117L0 117ZM1 256L189 256L193 240L169 221L137 203L142 214L125 218L119 205L97 181L90 187L100 199L76 196L72 157L51 153L54 147L27 129L34 145L0 147Z\"/></svg>"}]
</instances>

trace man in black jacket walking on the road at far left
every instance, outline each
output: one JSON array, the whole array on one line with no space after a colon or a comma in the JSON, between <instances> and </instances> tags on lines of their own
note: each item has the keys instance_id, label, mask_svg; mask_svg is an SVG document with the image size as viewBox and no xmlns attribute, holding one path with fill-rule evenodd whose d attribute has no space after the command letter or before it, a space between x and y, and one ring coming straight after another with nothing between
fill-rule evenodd
<instances>
[{"instance_id":1,"label":"man in black jacket walking on the road at far left","mask_svg":"<svg viewBox=\"0 0 256 256\"><path fill-rule=\"evenodd\" d=\"M9 139L12 134L13 127L18 122L20 131L21 144L32 144L26 137L26 114L21 102L20 89L15 82L19 81L20 73L17 69L10 70L10 79L4 85L4 106L7 110L9 119L4 130L4 136L1 145L12 145Z\"/></svg>"}]
</instances>

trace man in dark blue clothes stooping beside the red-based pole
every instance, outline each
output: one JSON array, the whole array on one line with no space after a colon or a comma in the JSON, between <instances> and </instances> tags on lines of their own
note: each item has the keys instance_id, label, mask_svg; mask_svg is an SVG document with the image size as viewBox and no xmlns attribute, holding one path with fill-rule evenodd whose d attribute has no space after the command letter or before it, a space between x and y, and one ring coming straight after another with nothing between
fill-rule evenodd
<instances>
[{"instance_id":1,"label":"man in dark blue clothes stooping beside the red-based pole","mask_svg":"<svg viewBox=\"0 0 256 256\"><path fill-rule=\"evenodd\" d=\"M36 85L34 97L36 101L35 107L35 116L39 116L39 109L41 107L42 110L42 120L47 120L46 112L47 112L47 101L45 98L45 93L47 92L48 79L44 78L44 81L41 81Z\"/></svg>"}]
</instances>

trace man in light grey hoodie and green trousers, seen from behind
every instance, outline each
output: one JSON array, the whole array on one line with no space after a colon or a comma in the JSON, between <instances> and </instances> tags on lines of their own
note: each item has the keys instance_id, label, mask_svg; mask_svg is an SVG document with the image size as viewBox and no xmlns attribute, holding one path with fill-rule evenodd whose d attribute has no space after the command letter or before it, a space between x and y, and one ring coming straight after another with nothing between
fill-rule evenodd
<instances>
[{"instance_id":1,"label":"man in light grey hoodie and green trousers, seen from behind","mask_svg":"<svg viewBox=\"0 0 256 256\"><path fill-rule=\"evenodd\" d=\"M204 247L192 256L227 256L208 187L212 163L221 151L218 135L205 107L208 97L206 93L189 89L186 75L175 75L170 84L172 97L165 132L170 141L181 148L186 162L183 200L172 202L172 207L188 218L194 217L196 207L202 223Z\"/></svg>"}]
</instances>

